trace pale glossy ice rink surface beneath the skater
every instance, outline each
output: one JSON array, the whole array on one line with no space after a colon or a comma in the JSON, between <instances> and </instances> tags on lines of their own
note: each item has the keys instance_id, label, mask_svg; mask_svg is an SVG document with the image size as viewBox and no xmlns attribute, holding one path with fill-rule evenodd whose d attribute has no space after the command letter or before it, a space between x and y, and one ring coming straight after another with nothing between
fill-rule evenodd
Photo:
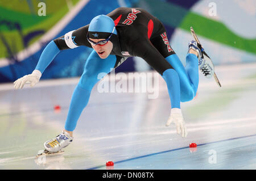
<instances>
[{"instance_id":1,"label":"pale glossy ice rink surface beneath the skater","mask_svg":"<svg viewBox=\"0 0 256 181\"><path fill-rule=\"evenodd\" d=\"M79 78L22 90L2 84L0 169L256 169L256 64L215 70L221 88L200 74L196 98L181 103L186 138L174 124L165 127L170 100L162 77L156 99L148 92L100 93L96 85L72 144L62 155L38 158L43 143L64 128Z\"/></svg>"}]
</instances>

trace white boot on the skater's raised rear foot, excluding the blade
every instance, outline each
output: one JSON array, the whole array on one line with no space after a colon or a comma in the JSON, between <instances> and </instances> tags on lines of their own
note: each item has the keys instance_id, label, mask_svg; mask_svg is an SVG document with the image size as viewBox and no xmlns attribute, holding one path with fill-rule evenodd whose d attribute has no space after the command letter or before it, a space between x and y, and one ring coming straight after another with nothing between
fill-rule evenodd
<instances>
[{"instance_id":1,"label":"white boot on the skater's raised rear foot, excluding the blade","mask_svg":"<svg viewBox=\"0 0 256 181\"><path fill-rule=\"evenodd\" d=\"M204 48L200 45L197 44L195 40L191 40L188 43L188 52L190 49L195 50L198 53L198 65L200 71L204 74L205 77L210 78L214 74L214 65L210 58L207 56L204 56L202 52L204 52Z\"/></svg>"}]
</instances>

